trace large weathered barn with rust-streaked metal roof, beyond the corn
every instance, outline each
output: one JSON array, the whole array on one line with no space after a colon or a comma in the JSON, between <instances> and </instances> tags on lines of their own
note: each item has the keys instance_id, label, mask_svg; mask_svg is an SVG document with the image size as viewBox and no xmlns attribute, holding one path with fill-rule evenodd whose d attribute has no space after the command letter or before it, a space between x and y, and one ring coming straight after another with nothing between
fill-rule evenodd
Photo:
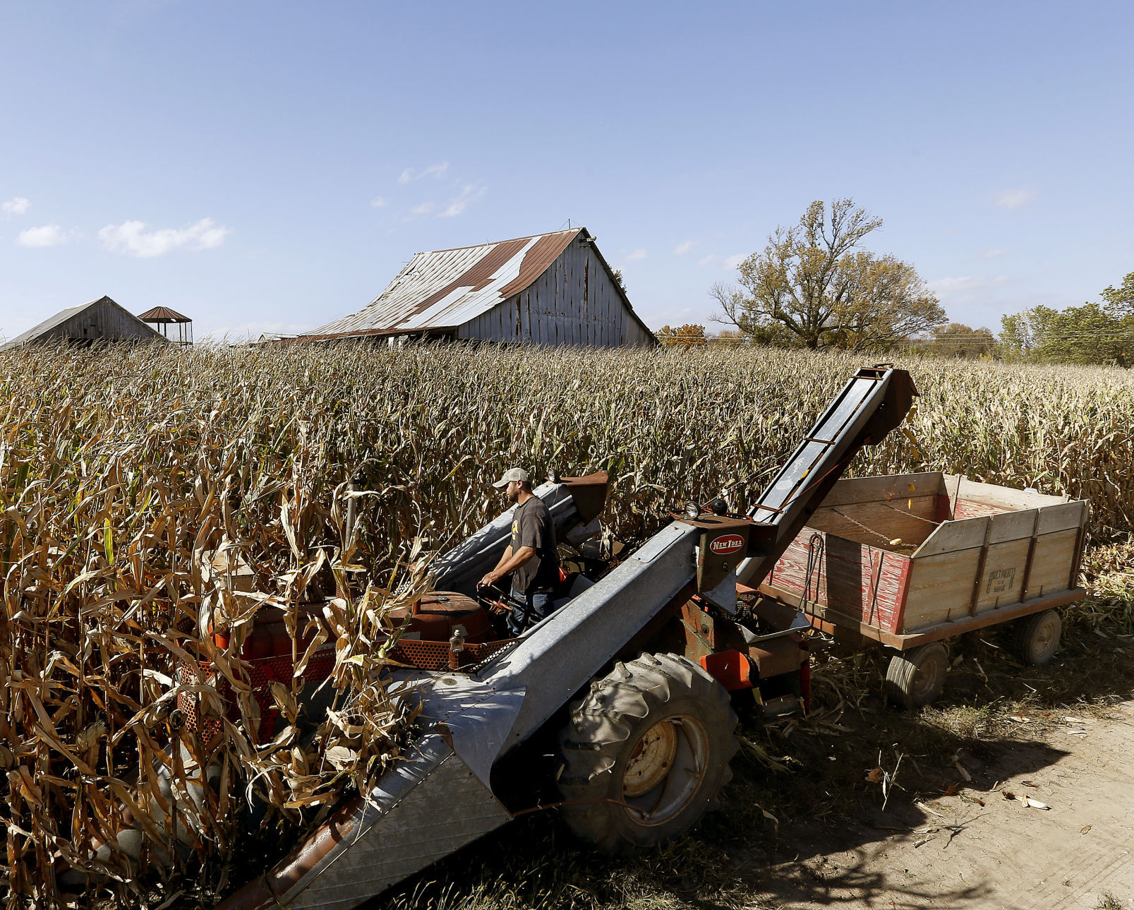
<instances>
[{"instance_id":1,"label":"large weathered barn with rust-streaked metal roof, beyond the corn","mask_svg":"<svg viewBox=\"0 0 1134 910\"><path fill-rule=\"evenodd\" d=\"M657 344L585 228L417 253L367 306L297 340L400 336Z\"/></svg>"}]
</instances>

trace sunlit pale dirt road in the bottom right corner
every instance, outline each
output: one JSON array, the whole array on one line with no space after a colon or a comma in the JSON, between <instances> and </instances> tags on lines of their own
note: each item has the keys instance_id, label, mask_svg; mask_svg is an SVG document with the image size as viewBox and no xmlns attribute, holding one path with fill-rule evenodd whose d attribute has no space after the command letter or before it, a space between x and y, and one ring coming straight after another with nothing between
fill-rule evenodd
<instances>
[{"instance_id":1,"label":"sunlit pale dirt road in the bottom right corner","mask_svg":"<svg viewBox=\"0 0 1134 910\"><path fill-rule=\"evenodd\" d=\"M836 835L794 825L773 858L798 858L772 865L758 905L1095 910L1109 895L1134 910L1134 701L1018 724L1044 728L962 753L972 781L957 769L955 794L894 800Z\"/></svg>"}]
</instances>

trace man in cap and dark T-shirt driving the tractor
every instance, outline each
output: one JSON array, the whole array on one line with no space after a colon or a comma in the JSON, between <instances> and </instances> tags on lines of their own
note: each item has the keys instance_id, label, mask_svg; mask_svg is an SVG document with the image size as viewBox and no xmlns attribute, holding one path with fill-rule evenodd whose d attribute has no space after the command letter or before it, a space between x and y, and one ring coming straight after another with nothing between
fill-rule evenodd
<instances>
[{"instance_id":1,"label":"man in cap and dark T-shirt driving the tractor","mask_svg":"<svg viewBox=\"0 0 1134 910\"><path fill-rule=\"evenodd\" d=\"M518 635L548 615L551 593L559 581L556 526L543 500L532 492L532 479L522 467L509 467L492 485L516 504L511 517L511 540L496 568L481 579L479 588L511 575L511 612L508 631Z\"/></svg>"}]
</instances>

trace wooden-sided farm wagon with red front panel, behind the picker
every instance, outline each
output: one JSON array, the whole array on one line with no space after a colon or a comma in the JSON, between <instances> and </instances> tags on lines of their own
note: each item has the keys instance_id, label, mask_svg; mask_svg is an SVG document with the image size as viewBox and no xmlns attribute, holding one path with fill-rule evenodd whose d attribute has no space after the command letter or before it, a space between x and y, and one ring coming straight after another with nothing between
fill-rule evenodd
<instances>
[{"instance_id":1,"label":"wooden-sided farm wagon with red front panel, behind the picker","mask_svg":"<svg viewBox=\"0 0 1134 910\"><path fill-rule=\"evenodd\" d=\"M1082 499L941 473L840 480L760 585L812 625L898 651L887 691L905 706L941 691L941 640L1016 621L1016 648L1051 659L1055 607L1077 587Z\"/></svg>"}]
</instances>

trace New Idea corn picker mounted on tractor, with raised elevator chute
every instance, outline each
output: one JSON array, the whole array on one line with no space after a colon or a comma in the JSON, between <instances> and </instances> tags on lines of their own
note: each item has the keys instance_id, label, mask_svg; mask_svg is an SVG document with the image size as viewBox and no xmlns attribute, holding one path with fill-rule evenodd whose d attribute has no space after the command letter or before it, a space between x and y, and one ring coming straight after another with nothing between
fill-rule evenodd
<instances>
[{"instance_id":1,"label":"New Idea corn picker mounted on tractor, with raised elevator chute","mask_svg":"<svg viewBox=\"0 0 1134 910\"><path fill-rule=\"evenodd\" d=\"M389 650L405 665L390 684L420 699L409 744L370 793L344 798L222 908L355 907L539 806L610 852L689 829L731 776L734 701L785 714L809 699L809 622L754 585L914 395L905 371L860 370L745 514L725 499L689 504L617 557L599 522L607 475L551 478L534 492L574 571L555 612L517 639L497 634L476 590L508 544L511 509L446 554L437 590L406 610ZM293 669L281 633L257 621L244 644L268 738L268 683ZM331 671L325 647L308 683Z\"/></svg>"}]
</instances>

